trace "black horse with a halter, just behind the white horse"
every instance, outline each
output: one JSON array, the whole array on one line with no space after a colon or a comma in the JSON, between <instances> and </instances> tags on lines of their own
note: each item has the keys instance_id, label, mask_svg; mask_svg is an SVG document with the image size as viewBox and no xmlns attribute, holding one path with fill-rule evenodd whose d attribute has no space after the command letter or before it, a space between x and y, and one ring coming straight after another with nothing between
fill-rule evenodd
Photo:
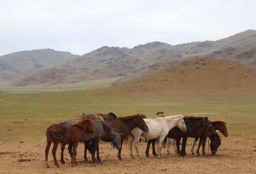
<instances>
[{"instance_id":1,"label":"black horse with a halter, just behind the white horse","mask_svg":"<svg viewBox=\"0 0 256 174\"><path fill-rule=\"evenodd\" d=\"M185 116L184 117L184 121L187 127L187 131L186 132L182 132L178 127L174 127L172 128L168 134L167 137L168 138L174 138L174 139L178 139L180 140L181 138L183 138L182 140L182 149L180 151L180 144L177 144L177 153L181 154L182 156L186 155L186 143L187 143L187 138L188 136L196 129L202 127L203 129L207 130L210 134L215 132L215 129L213 128L213 126L211 125L210 121L208 120L208 117L201 117L201 116ZM150 143L152 143L152 147L153 147L153 155L156 156L156 151L155 151L155 143L156 143L157 139L151 139L148 141L147 144L147 148L146 148L146 156L149 156L149 147L150 147ZM178 141L177 142L180 142ZM177 143L176 142L176 143ZM164 146L166 145L167 141L165 139L164 141ZM168 154L169 152L169 148L167 149Z\"/></svg>"}]
</instances>

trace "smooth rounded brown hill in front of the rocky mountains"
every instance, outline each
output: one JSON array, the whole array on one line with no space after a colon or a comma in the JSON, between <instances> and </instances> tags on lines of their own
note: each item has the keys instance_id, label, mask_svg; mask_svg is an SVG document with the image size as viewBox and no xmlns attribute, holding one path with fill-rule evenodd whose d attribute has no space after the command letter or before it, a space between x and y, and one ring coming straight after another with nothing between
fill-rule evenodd
<instances>
[{"instance_id":1,"label":"smooth rounded brown hill in front of the rocky mountains","mask_svg":"<svg viewBox=\"0 0 256 174\"><path fill-rule=\"evenodd\" d=\"M111 86L129 95L256 95L256 67L233 61L192 58L133 80Z\"/></svg>"}]
</instances>

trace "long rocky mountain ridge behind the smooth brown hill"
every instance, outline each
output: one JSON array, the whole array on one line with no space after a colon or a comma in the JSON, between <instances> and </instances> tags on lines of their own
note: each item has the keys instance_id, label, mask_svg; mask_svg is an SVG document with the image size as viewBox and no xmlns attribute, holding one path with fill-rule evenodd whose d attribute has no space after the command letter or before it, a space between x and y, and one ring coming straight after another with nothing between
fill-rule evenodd
<instances>
[{"instance_id":1,"label":"long rocky mountain ridge behind the smooth brown hill","mask_svg":"<svg viewBox=\"0 0 256 174\"><path fill-rule=\"evenodd\" d=\"M131 49L103 46L62 64L27 71L15 80L13 85L61 84L122 77L113 83L117 84L150 74L190 57L225 59L254 66L256 30L246 30L216 41L178 45L155 41Z\"/></svg>"}]
</instances>

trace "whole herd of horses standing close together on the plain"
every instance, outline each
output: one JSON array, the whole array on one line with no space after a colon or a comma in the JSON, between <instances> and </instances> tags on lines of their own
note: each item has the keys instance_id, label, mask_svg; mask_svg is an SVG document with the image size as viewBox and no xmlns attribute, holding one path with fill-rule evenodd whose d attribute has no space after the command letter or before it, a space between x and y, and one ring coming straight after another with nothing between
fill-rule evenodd
<instances>
[{"instance_id":1,"label":"whole herd of horses standing close together on the plain","mask_svg":"<svg viewBox=\"0 0 256 174\"><path fill-rule=\"evenodd\" d=\"M56 159L56 150L61 145L61 162L64 161L64 149L68 144L68 151L71 156L71 166L77 165L76 148L79 142L84 142L84 160L87 159L87 150L91 153L92 161L100 161L99 141L111 142L111 145L118 150L117 157L122 160L122 145L129 143L131 157L133 154L133 145L135 146L137 156L142 157L138 143L141 137L147 140L146 156L149 156L149 148L152 144L153 155L161 158L162 147L167 146L167 154L172 144L175 151L186 155L186 142L188 137L195 138L191 153L194 154L194 146L199 139L197 154L202 144L202 154L205 153L205 144L207 137L210 138L210 149L212 154L216 154L221 143L221 138L216 130L219 130L225 137L228 136L226 122L210 121L208 117L202 116L184 116L174 115L165 116L164 112L157 112L157 118L147 118L144 114L134 114L130 116L117 117L114 113L107 114L82 114L80 119L69 119L58 124L50 125L46 130L47 142L45 148L45 164L49 167L48 153L51 143L53 143L52 154L54 164L60 167ZM180 140L182 138L182 147L180 149ZM157 152L155 144L157 142ZM176 146L175 146L176 144ZM95 157L96 153L96 157Z\"/></svg>"}]
</instances>

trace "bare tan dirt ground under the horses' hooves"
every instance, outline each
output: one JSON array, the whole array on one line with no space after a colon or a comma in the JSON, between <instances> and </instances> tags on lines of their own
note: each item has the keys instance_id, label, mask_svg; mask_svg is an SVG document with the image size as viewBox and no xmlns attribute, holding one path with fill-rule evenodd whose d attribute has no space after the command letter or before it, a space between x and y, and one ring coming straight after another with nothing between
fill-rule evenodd
<instances>
[{"instance_id":1,"label":"bare tan dirt ground under the horses' hooves","mask_svg":"<svg viewBox=\"0 0 256 174\"><path fill-rule=\"evenodd\" d=\"M166 154L163 158L152 155L145 156L146 143L139 143L142 159L130 157L129 146L122 150L123 160L117 159L117 150L109 143L100 143L100 156L102 162L92 163L91 160L83 162L83 144L78 146L78 166L70 166L70 158L65 151L66 164L57 168L53 163L51 152L49 153L50 168L44 164L44 149L42 138L40 140L24 139L20 142L0 142L0 173L256 173L256 144L255 139L232 138L222 139L221 146L216 155L209 154L208 157L190 154L192 138L187 145L187 157L182 157L173 152ZM206 146L206 152L208 146ZM201 151L200 151L201 152ZM136 151L134 150L136 154ZM210 153L210 152L209 152ZM88 158L90 159L90 154ZM60 159L58 148L57 159Z\"/></svg>"}]
</instances>

